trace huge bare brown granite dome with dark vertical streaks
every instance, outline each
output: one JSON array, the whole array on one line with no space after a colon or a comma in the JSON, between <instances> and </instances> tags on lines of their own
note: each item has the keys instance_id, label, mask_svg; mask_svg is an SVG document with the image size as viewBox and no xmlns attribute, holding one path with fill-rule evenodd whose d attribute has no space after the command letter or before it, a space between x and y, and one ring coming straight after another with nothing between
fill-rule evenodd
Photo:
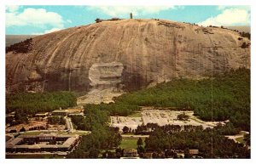
<instances>
[{"instance_id":1,"label":"huge bare brown granite dome with dark vertical streaks","mask_svg":"<svg viewBox=\"0 0 256 164\"><path fill-rule=\"evenodd\" d=\"M7 92L133 90L175 77L250 68L250 41L235 31L169 20L116 20L32 39L6 54Z\"/></svg>"}]
</instances>

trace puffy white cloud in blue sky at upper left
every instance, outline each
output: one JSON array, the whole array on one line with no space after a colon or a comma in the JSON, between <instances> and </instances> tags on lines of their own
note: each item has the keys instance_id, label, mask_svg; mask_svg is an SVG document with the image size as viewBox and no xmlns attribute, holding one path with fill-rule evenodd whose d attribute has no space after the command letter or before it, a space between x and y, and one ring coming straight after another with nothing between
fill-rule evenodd
<instances>
[{"instance_id":1,"label":"puffy white cloud in blue sky at upper left","mask_svg":"<svg viewBox=\"0 0 256 164\"><path fill-rule=\"evenodd\" d=\"M15 8L7 9L6 26L33 25L44 27L50 25L55 28L63 28L64 21L60 14L48 12L44 8L26 8L23 12L17 13Z\"/></svg>"}]
</instances>

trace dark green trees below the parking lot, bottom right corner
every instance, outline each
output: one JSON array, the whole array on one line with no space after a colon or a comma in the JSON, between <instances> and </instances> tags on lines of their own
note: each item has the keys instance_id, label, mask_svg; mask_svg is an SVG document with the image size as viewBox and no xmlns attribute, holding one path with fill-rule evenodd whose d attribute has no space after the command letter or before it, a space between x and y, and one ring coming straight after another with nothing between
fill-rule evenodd
<instances>
[{"instance_id":1,"label":"dark green trees below the parking lot, bottom right corner","mask_svg":"<svg viewBox=\"0 0 256 164\"><path fill-rule=\"evenodd\" d=\"M215 130L207 128L179 133L166 133L161 128L156 128L153 133L145 139L145 150L149 152L166 150L185 150L185 157L189 149L199 150L203 158L250 158L250 150L243 144L237 144L232 139L227 139Z\"/></svg>"}]
</instances>

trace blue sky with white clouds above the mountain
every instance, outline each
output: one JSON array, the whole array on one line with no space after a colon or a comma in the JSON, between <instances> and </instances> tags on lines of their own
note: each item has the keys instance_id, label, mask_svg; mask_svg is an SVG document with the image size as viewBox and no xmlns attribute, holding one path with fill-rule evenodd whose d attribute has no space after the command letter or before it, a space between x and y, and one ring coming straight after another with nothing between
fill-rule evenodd
<instances>
[{"instance_id":1,"label":"blue sky with white clouds above the mountain","mask_svg":"<svg viewBox=\"0 0 256 164\"><path fill-rule=\"evenodd\" d=\"M250 6L6 6L8 35L41 35L96 18L164 19L199 25L250 25Z\"/></svg>"}]
</instances>

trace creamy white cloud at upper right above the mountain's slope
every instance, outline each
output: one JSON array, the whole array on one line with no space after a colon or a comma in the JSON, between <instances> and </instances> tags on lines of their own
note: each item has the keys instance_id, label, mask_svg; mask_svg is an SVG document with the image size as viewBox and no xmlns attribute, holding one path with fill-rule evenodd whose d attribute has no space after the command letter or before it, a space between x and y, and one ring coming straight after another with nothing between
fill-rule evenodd
<instances>
[{"instance_id":1,"label":"creamy white cloud at upper right above the mountain's slope","mask_svg":"<svg viewBox=\"0 0 256 164\"><path fill-rule=\"evenodd\" d=\"M250 11L244 8L226 8L221 14L204 20L199 25L250 25Z\"/></svg>"}]
</instances>

